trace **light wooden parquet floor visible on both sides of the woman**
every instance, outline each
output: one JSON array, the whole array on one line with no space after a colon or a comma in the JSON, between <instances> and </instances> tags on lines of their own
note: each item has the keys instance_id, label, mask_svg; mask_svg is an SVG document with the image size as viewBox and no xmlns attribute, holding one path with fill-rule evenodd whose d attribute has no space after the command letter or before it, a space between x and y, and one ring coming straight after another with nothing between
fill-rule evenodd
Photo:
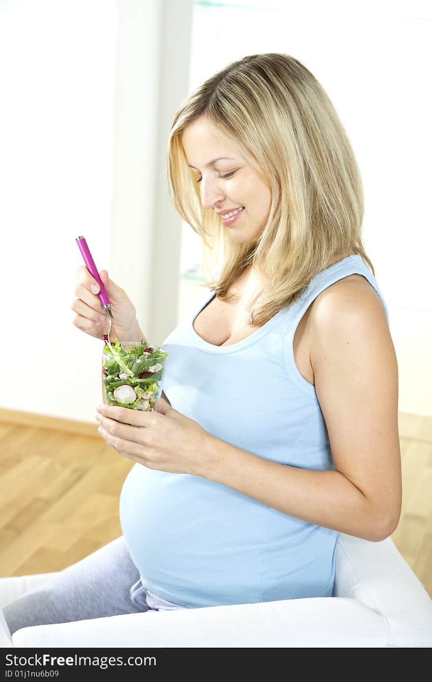
<instances>
[{"instance_id":1,"label":"light wooden parquet floor visible on both sides of the woman","mask_svg":"<svg viewBox=\"0 0 432 682\"><path fill-rule=\"evenodd\" d=\"M0 413L0 576L61 570L121 535L119 494L134 464L96 421L86 434L34 426L34 415L18 422ZM399 413L399 435L403 505L392 539L432 597L432 418Z\"/></svg>"}]
</instances>

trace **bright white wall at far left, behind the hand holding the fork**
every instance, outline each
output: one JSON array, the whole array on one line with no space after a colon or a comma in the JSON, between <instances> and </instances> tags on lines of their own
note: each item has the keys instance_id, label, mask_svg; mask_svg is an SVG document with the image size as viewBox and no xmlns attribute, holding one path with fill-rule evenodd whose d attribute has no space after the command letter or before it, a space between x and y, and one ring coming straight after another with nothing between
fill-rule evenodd
<instances>
[{"instance_id":1,"label":"bright white wall at far left, behind the hand holding the fork","mask_svg":"<svg viewBox=\"0 0 432 682\"><path fill-rule=\"evenodd\" d=\"M0 405L91 420L102 342L73 325L85 235L109 265L117 5L0 4ZM82 259L81 259L82 260Z\"/></svg>"}]
</instances>

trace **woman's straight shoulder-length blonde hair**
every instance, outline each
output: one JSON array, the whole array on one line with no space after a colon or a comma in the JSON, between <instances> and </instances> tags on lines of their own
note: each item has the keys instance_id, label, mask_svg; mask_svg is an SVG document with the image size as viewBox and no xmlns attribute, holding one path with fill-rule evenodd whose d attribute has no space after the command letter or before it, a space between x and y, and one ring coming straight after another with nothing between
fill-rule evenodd
<instances>
[{"instance_id":1,"label":"woman's straight shoulder-length blonde hair","mask_svg":"<svg viewBox=\"0 0 432 682\"><path fill-rule=\"evenodd\" d=\"M253 243L235 241L216 211L201 207L182 145L182 132L201 116L261 170L272 190L267 222ZM349 251L375 275L362 242L354 151L326 91L293 57L243 57L190 94L171 126L167 179L175 209L203 240L208 278L201 286L227 300L248 265L259 269L264 286L249 306L253 327L296 301L317 273Z\"/></svg>"}]
</instances>

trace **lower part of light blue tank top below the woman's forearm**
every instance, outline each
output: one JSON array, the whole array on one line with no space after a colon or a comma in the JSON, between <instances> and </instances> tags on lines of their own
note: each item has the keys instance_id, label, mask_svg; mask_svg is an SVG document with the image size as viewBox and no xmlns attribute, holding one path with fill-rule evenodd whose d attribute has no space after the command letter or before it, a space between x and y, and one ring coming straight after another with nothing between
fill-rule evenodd
<instances>
[{"instance_id":1,"label":"lower part of light blue tank top below the woman's forearm","mask_svg":"<svg viewBox=\"0 0 432 682\"><path fill-rule=\"evenodd\" d=\"M135 464L120 522L143 586L188 608L331 595L337 533L229 486Z\"/></svg>"}]
</instances>

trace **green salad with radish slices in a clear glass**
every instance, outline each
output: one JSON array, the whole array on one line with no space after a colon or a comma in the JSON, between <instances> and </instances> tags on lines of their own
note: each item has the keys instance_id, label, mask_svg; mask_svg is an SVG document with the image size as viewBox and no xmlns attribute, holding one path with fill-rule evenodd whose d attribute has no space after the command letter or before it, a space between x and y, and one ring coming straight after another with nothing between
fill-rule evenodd
<instances>
[{"instance_id":1,"label":"green salad with radish slices in a clear glass","mask_svg":"<svg viewBox=\"0 0 432 682\"><path fill-rule=\"evenodd\" d=\"M168 353L141 342L120 342L104 346L102 352L102 394L104 404L131 410L154 411L162 393Z\"/></svg>"}]
</instances>

